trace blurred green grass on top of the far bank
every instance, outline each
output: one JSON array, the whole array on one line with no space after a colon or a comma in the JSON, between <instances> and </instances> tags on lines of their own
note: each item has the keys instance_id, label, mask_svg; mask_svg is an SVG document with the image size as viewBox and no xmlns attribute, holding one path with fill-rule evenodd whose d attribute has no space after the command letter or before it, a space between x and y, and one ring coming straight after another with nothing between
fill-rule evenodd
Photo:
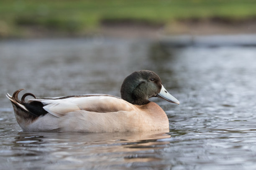
<instances>
[{"instance_id":1,"label":"blurred green grass on top of the far bank","mask_svg":"<svg viewBox=\"0 0 256 170\"><path fill-rule=\"evenodd\" d=\"M28 28L67 33L97 30L102 21L151 24L180 19L256 18L256 0L0 0L0 37Z\"/></svg>"}]
</instances>

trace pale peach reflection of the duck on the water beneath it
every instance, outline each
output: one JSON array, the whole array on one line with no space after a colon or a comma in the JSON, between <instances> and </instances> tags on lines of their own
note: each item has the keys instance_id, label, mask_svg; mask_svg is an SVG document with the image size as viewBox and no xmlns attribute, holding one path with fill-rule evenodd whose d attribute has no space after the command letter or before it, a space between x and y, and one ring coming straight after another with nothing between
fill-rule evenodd
<instances>
[{"instance_id":1,"label":"pale peach reflection of the duck on the water beneath it","mask_svg":"<svg viewBox=\"0 0 256 170\"><path fill-rule=\"evenodd\" d=\"M164 148L171 138L169 131L118 133L28 133L19 132L13 150L28 155L90 155L118 153L131 159L137 152ZM17 155L18 156L18 155Z\"/></svg>"}]
</instances>

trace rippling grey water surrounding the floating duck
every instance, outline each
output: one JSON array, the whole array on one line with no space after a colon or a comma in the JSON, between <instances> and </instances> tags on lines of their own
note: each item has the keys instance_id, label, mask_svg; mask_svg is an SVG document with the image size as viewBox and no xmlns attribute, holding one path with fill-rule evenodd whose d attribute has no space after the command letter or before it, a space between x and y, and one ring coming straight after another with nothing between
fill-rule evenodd
<instances>
[{"instance_id":1,"label":"rippling grey water surrounding the floating duck","mask_svg":"<svg viewBox=\"0 0 256 170\"><path fill-rule=\"evenodd\" d=\"M0 169L254 170L256 47L235 39L0 41ZM23 132L5 97L19 88L36 97L120 96L123 79L144 69L181 103L151 99L169 117L169 132Z\"/></svg>"}]
</instances>

